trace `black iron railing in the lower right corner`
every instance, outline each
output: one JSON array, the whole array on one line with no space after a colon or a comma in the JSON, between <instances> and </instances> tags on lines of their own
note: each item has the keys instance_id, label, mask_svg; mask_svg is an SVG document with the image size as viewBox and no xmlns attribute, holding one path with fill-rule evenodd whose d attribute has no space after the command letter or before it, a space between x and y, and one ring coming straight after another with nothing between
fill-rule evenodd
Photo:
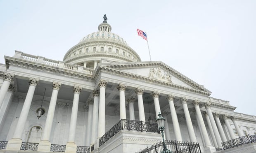
<instances>
[{"instance_id":1,"label":"black iron railing in the lower right corner","mask_svg":"<svg viewBox=\"0 0 256 153\"><path fill-rule=\"evenodd\" d=\"M225 150L228 148L234 148L235 146L238 146L238 145L248 144L250 142L251 143L256 142L256 135L246 135L243 137L232 139L230 141L223 142L222 147Z\"/></svg>"}]
</instances>

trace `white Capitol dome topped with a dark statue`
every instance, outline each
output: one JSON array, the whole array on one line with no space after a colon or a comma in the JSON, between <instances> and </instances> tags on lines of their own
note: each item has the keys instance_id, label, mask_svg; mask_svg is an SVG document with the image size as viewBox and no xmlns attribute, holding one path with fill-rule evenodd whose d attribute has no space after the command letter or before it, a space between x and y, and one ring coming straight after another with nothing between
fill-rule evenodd
<instances>
[{"instance_id":1,"label":"white Capitol dome topped with a dark statue","mask_svg":"<svg viewBox=\"0 0 256 153\"><path fill-rule=\"evenodd\" d=\"M111 32L107 17L93 32L73 46L65 54L63 61L95 69L97 63L141 62L139 55L128 46L126 41Z\"/></svg>"}]
</instances>

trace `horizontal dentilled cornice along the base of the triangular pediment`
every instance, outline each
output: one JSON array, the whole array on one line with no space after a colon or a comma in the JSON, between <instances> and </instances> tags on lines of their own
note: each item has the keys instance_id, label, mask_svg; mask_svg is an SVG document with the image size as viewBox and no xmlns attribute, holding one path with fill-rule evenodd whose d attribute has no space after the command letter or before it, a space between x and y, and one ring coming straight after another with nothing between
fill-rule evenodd
<instances>
[{"instance_id":1,"label":"horizontal dentilled cornice along the base of the triangular pediment","mask_svg":"<svg viewBox=\"0 0 256 153\"><path fill-rule=\"evenodd\" d=\"M100 72L105 72L105 73L118 75L118 76L122 76L122 77L126 77L126 78L132 78L132 79L136 79L136 80L139 80L139 81L143 80L145 82L154 83L154 84L157 84L157 85L161 84L163 86L170 86L170 87L173 87L173 88L186 90L186 91L190 91L190 92L193 92L193 93L199 93L201 95L207 95L207 96L210 95L210 93L205 92L205 91L195 90L195 89L192 89L192 88L179 86L177 84L164 82L164 81L159 81L159 80L151 79L151 78L148 78L148 77L145 77L145 76L140 76L140 75L136 75L136 74L132 74L132 73L128 73L128 72L123 72L123 71L119 71L119 70L115 70L115 69L111 69L109 67L103 67L103 66L98 67L98 69L95 72L95 74L93 75L93 77L97 78L97 76L100 74Z\"/></svg>"}]
</instances>

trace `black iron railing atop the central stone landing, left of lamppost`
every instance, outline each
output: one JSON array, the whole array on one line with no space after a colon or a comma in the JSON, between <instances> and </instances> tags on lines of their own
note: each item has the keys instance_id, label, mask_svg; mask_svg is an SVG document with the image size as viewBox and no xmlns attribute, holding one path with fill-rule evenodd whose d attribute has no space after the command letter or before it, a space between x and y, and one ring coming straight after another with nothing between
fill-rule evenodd
<instances>
[{"instance_id":1,"label":"black iron railing atop the central stone landing, left of lamppost","mask_svg":"<svg viewBox=\"0 0 256 153\"><path fill-rule=\"evenodd\" d=\"M158 125L156 123L133 121L121 119L114 125L107 133L100 138L100 146L107 142L111 137L121 130L134 130L140 132L158 132Z\"/></svg>"}]
</instances>

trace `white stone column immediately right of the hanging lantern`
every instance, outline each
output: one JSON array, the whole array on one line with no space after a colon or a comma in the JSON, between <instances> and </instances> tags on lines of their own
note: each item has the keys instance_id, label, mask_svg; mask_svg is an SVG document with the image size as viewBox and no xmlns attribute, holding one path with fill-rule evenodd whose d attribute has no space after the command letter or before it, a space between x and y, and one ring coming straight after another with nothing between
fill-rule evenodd
<instances>
[{"instance_id":1,"label":"white stone column immediately right of the hanging lantern","mask_svg":"<svg viewBox=\"0 0 256 153\"><path fill-rule=\"evenodd\" d=\"M61 83L53 82L52 83L52 96L50 100L50 105L47 113L47 118L45 121L45 127L43 130L43 138L38 145L38 151L50 151L50 134L52 130L52 121L55 113L55 107L57 102L57 96Z\"/></svg>"}]
</instances>

